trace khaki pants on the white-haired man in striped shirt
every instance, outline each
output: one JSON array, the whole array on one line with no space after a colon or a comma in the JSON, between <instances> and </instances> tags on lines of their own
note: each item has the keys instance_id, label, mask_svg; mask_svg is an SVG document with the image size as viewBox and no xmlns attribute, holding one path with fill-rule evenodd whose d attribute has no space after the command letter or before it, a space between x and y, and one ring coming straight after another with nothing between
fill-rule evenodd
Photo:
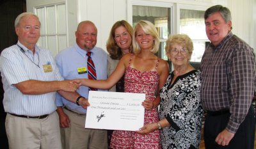
<instances>
[{"instance_id":1,"label":"khaki pants on the white-haired man in striped shirt","mask_svg":"<svg viewBox=\"0 0 256 149\"><path fill-rule=\"evenodd\" d=\"M61 149L60 122L56 112L47 118L20 118L6 115L10 149Z\"/></svg>"}]
</instances>

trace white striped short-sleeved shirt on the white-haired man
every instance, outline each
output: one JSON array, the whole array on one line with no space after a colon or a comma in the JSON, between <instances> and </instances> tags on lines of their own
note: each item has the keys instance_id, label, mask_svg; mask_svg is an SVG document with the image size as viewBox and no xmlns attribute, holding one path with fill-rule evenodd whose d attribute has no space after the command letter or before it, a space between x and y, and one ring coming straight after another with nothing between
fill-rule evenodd
<instances>
[{"instance_id":1,"label":"white striped short-sleeved shirt on the white-haired man","mask_svg":"<svg viewBox=\"0 0 256 149\"><path fill-rule=\"evenodd\" d=\"M35 47L35 54L20 42L3 50L0 70L4 88L4 111L27 116L50 114L56 110L56 92L24 95L13 84L22 81L61 81L58 67L46 49ZM38 66L37 66L38 65ZM51 65L52 72L44 72L43 65Z\"/></svg>"}]
</instances>

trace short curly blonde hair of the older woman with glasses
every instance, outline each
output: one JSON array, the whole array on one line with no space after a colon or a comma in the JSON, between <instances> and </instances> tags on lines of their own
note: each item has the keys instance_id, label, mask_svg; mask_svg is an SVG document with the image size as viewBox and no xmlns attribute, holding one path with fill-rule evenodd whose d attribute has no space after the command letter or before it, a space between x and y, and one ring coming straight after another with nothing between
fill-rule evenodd
<instances>
[{"instance_id":1,"label":"short curly blonde hair of the older woman with glasses","mask_svg":"<svg viewBox=\"0 0 256 149\"><path fill-rule=\"evenodd\" d=\"M168 39L166 40L166 46L165 46L166 54L168 53L168 49L171 49L171 46L173 44L178 44L178 45L182 45L182 47L186 47L188 51L188 57L189 59L191 58L194 47L193 47L193 42L188 35L176 34L176 35L168 36Z\"/></svg>"}]
</instances>

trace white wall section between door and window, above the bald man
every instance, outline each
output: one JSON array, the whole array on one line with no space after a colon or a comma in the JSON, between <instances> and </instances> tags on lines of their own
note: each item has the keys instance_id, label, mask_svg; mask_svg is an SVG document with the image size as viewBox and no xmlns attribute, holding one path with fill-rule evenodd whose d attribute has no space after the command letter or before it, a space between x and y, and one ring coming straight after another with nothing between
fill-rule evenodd
<instances>
[{"instance_id":1,"label":"white wall section between door and window, above the bald man","mask_svg":"<svg viewBox=\"0 0 256 149\"><path fill-rule=\"evenodd\" d=\"M126 20L125 0L78 0L78 21L91 20L98 29L97 46L106 50L109 31L117 20Z\"/></svg>"}]
</instances>

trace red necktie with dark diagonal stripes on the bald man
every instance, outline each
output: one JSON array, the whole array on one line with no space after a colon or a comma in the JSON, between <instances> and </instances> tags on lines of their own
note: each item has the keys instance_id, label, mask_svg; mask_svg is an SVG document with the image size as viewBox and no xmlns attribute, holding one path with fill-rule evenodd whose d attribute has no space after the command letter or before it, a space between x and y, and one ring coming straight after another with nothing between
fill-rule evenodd
<instances>
[{"instance_id":1,"label":"red necktie with dark diagonal stripes on the bald man","mask_svg":"<svg viewBox=\"0 0 256 149\"><path fill-rule=\"evenodd\" d=\"M95 70L94 63L92 61L91 54L92 52L86 53L86 56L88 56L88 59L87 59L88 79L97 80L96 70ZM97 91L96 88L89 88L89 90Z\"/></svg>"}]
</instances>

